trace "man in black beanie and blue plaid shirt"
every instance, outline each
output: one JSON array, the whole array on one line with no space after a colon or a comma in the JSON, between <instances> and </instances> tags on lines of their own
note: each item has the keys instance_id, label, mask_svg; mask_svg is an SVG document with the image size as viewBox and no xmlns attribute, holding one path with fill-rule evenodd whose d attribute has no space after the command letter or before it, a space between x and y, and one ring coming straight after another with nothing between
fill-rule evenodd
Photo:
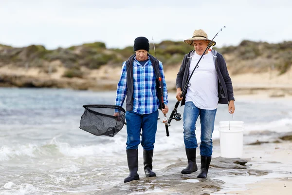
<instances>
[{"instance_id":1,"label":"man in black beanie and blue plaid shirt","mask_svg":"<svg viewBox=\"0 0 292 195\"><path fill-rule=\"evenodd\" d=\"M152 171L152 157L157 131L158 109L168 112L167 87L163 65L150 54L149 41L138 37L134 41L134 52L123 62L121 78L117 86L115 105L122 106L126 100L127 159L129 176L124 182L138 180L138 145L143 147L146 177L156 176ZM165 106L165 107L164 107ZM163 108L164 107L164 108ZM118 116L118 113L114 114ZM142 140L140 132L142 129Z\"/></svg>"}]
</instances>

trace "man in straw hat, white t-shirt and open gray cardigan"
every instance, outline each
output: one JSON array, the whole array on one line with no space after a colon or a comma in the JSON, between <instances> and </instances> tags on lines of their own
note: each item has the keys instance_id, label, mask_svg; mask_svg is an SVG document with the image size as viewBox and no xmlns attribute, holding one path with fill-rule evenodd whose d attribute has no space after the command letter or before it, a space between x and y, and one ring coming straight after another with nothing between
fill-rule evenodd
<instances>
[{"instance_id":1,"label":"man in straw hat, white t-shirt and open gray cardigan","mask_svg":"<svg viewBox=\"0 0 292 195\"><path fill-rule=\"evenodd\" d=\"M221 54L215 50L208 50L204 53L211 40L203 30L195 30L193 37L184 40L188 45L194 45L194 50L190 51L183 58L183 62L176 78L178 101L182 100L184 106L183 113L183 139L188 165L182 170L182 174L191 174L198 170L196 164L196 149L198 147L196 139L196 121L200 115L201 122L201 172L198 178L207 178L209 165L212 156L212 133L214 130L215 115L218 103L228 104L229 113L235 111L233 87L229 77L225 60ZM213 41L210 45L215 45ZM203 55L199 67L194 74L196 64ZM185 96L180 97L182 89L188 85Z\"/></svg>"}]
</instances>

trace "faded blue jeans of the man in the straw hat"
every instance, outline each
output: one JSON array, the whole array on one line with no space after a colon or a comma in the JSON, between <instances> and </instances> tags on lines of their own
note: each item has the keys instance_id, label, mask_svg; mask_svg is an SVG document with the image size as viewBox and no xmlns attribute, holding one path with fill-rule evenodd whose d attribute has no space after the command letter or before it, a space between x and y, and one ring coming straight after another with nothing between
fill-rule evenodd
<instances>
[{"instance_id":1,"label":"faded blue jeans of the man in the straw hat","mask_svg":"<svg viewBox=\"0 0 292 195\"><path fill-rule=\"evenodd\" d=\"M200 115L201 122L201 144L200 155L212 156L213 141L212 134L215 123L215 110L203 110L197 108L192 101L185 102L183 113L183 140L185 148L197 148L196 122Z\"/></svg>"}]
</instances>

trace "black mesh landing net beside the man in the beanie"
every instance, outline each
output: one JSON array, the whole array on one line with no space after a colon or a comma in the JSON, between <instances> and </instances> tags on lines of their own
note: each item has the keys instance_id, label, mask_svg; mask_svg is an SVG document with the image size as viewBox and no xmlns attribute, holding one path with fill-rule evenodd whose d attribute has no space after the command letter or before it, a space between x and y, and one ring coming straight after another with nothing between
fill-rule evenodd
<instances>
[{"instance_id":1,"label":"black mesh landing net beside the man in the beanie","mask_svg":"<svg viewBox=\"0 0 292 195\"><path fill-rule=\"evenodd\" d=\"M125 109L116 105L83 105L80 129L95 136L113 137L123 128ZM118 113L114 116L114 113Z\"/></svg>"}]
</instances>

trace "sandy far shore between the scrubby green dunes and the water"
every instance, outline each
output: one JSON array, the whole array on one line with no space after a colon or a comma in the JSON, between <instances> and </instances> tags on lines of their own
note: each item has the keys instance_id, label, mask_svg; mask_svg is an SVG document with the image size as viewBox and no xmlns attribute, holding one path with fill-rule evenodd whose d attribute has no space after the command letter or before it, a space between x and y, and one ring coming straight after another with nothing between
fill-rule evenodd
<instances>
[{"instance_id":1,"label":"sandy far shore between the scrubby green dunes and the water","mask_svg":"<svg viewBox=\"0 0 292 195\"><path fill-rule=\"evenodd\" d=\"M56 61L56 64L60 62ZM167 89L176 92L176 76L180 65L164 71ZM0 87L70 88L74 90L116 90L121 67L101 66L99 69L81 68L83 78L63 77L66 68L58 66L50 74L39 68L21 68L12 65L0 67ZM231 71L230 71L231 72ZM292 69L279 75L278 71L241 73L232 75L235 95L268 94L270 97L292 96Z\"/></svg>"}]
</instances>

